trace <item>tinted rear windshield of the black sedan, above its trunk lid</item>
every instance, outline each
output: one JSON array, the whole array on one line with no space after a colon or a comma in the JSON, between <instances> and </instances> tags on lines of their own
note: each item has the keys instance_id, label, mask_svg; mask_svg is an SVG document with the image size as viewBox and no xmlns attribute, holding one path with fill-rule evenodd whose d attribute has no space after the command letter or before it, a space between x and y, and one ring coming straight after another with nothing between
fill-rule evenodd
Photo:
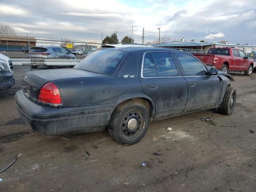
<instances>
[{"instance_id":1,"label":"tinted rear windshield of the black sedan, above its trunk lid","mask_svg":"<svg viewBox=\"0 0 256 192\"><path fill-rule=\"evenodd\" d=\"M118 50L96 51L80 61L75 68L100 74L114 75L125 55L126 52Z\"/></svg>"}]
</instances>

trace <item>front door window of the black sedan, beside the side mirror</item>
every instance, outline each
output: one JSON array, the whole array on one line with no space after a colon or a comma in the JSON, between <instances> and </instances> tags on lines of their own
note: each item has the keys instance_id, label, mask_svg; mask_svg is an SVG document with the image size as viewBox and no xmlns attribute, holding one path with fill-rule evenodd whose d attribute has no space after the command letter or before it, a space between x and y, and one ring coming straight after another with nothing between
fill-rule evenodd
<instances>
[{"instance_id":1,"label":"front door window of the black sedan, beside the side mirror","mask_svg":"<svg viewBox=\"0 0 256 192\"><path fill-rule=\"evenodd\" d=\"M202 76L207 75L206 66L193 56L183 53L175 53L182 65L185 76Z\"/></svg>"}]
</instances>

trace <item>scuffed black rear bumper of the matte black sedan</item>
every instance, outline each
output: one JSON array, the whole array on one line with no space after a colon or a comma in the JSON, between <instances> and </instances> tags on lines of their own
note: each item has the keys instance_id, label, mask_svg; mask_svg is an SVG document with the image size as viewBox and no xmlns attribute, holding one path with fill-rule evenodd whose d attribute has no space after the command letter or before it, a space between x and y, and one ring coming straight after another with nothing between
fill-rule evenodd
<instances>
[{"instance_id":1,"label":"scuffed black rear bumper of the matte black sedan","mask_svg":"<svg viewBox=\"0 0 256 192\"><path fill-rule=\"evenodd\" d=\"M111 105L44 108L24 96L15 95L16 108L31 128L45 135L63 135L104 130L112 113Z\"/></svg>"}]
</instances>

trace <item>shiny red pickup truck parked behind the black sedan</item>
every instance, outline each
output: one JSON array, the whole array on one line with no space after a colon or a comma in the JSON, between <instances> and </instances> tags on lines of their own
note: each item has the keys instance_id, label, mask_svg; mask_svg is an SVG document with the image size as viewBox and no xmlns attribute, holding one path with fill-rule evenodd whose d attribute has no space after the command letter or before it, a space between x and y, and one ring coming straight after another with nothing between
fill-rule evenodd
<instances>
[{"instance_id":1,"label":"shiny red pickup truck parked behind the black sedan","mask_svg":"<svg viewBox=\"0 0 256 192\"><path fill-rule=\"evenodd\" d=\"M216 69L223 72L244 71L244 74L250 76L254 68L254 60L247 57L242 50L225 47L210 48L207 54L193 54L204 64L215 66Z\"/></svg>"}]
</instances>

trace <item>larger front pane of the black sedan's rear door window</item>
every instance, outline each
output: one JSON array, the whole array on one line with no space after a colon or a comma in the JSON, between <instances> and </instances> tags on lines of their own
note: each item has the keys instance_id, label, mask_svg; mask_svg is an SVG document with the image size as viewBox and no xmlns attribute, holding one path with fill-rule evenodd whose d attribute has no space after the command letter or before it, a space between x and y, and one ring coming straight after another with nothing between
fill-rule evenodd
<instances>
[{"instance_id":1,"label":"larger front pane of the black sedan's rear door window","mask_svg":"<svg viewBox=\"0 0 256 192\"><path fill-rule=\"evenodd\" d=\"M151 53L156 64L158 77L176 77L178 71L174 60L168 52L152 52Z\"/></svg>"}]
</instances>

